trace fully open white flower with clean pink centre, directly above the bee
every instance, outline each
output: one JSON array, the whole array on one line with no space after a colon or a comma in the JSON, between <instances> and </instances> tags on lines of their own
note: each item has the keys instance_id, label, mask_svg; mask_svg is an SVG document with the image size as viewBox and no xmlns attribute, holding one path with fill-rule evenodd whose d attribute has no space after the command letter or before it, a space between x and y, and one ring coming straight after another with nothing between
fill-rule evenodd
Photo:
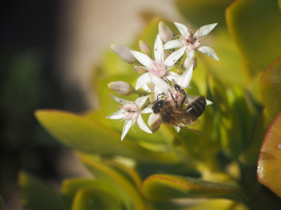
<instances>
[{"instance_id":1,"label":"fully open white flower with clean pink centre, directly above the bee","mask_svg":"<svg viewBox=\"0 0 281 210\"><path fill-rule=\"evenodd\" d=\"M165 77L172 81L172 79L177 80L180 77L179 74L170 72L169 70L174 66L177 60L184 54L186 46L183 46L177 51L174 51L171 55L167 57L164 61L164 49L160 36L157 34L154 44L154 57L155 60L152 60L148 55L143 53L131 50L131 53L135 56L135 58L143 64L148 72L141 75L136 82L135 89L138 90L143 85L152 81L150 76L154 75L158 78Z\"/></svg>"}]
</instances>

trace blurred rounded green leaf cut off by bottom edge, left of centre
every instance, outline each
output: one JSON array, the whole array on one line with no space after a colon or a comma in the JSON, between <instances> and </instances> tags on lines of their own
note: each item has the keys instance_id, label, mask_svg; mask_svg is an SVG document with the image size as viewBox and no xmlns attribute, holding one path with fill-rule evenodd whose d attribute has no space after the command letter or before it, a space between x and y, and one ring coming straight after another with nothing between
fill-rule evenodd
<instances>
[{"instance_id":1,"label":"blurred rounded green leaf cut off by bottom edge, left of centre","mask_svg":"<svg viewBox=\"0 0 281 210\"><path fill-rule=\"evenodd\" d=\"M122 210L120 203L110 194L92 188L80 189L72 203L71 210Z\"/></svg>"}]
</instances>

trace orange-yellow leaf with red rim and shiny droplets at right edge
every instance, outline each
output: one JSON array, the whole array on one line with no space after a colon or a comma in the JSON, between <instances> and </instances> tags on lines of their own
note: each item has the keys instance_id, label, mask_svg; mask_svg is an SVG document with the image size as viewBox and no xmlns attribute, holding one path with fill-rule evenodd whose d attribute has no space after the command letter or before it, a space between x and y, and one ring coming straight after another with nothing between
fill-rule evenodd
<instances>
[{"instance_id":1,"label":"orange-yellow leaf with red rim and shiny droplets at right edge","mask_svg":"<svg viewBox=\"0 0 281 210\"><path fill-rule=\"evenodd\" d=\"M270 124L261 145L258 181L281 197L281 112Z\"/></svg>"}]
</instances>

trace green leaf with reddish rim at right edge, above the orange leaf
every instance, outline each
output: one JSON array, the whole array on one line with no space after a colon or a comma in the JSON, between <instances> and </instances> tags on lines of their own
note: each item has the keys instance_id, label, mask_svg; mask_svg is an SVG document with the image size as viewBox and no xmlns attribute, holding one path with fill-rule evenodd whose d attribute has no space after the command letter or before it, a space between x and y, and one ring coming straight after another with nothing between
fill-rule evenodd
<instances>
[{"instance_id":1,"label":"green leaf with reddish rim at right edge, above the orange leaf","mask_svg":"<svg viewBox=\"0 0 281 210\"><path fill-rule=\"evenodd\" d=\"M265 109L274 118L281 110L281 55L264 70L260 93Z\"/></svg>"}]
</instances>

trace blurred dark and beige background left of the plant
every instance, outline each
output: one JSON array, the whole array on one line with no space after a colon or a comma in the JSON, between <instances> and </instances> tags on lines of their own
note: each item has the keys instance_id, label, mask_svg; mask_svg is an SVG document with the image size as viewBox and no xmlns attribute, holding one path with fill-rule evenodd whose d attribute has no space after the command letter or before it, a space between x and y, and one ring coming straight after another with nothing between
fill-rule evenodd
<instances>
[{"instance_id":1,"label":"blurred dark and beige background left of the plant","mask_svg":"<svg viewBox=\"0 0 281 210\"><path fill-rule=\"evenodd\" d=\"M98 107L89 78L104 49L129 44L155 15L186 21L173 0L1 1L0 10L0 194L10 210L22 209L20 169L57 189L65 177L88 176L34 110Z\"/></svg>"}]
</instances>

